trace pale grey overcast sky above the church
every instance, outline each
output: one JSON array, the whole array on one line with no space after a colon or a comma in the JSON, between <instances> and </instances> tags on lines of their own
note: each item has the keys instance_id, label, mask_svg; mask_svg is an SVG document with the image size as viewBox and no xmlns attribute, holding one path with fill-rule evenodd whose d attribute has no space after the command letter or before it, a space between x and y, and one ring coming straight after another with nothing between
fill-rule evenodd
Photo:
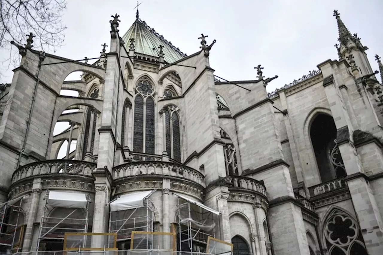
<instances>
[{"instance_id":1,"label":"pale grey overcast sky above the church","mask_svg":"<svg viewBox=\"0 0 383 255\"><path fill-rule=\"evenodd\" d=\"M352 34L367 46L370 63L383 57L382 0L140 0L140 18L188 55L200 50L201 33L208 44L214 74L227 80L254 80L261 64L264 76L279 78L268 92L283 87L319 63L337 59L338 30L334 9ZM136 19L134 0L67 0L64 46L56 55L83 59L100 56L110 45L111 15L120 15L120 36ZM108 48L107 48L108 50ZM52 53L52 52L48 52ZM9 52L0 52L0 57ZM0 82L11 82L12 72ZM379 76L379 75L378 75Z\"/></svg>"}]
</instances>

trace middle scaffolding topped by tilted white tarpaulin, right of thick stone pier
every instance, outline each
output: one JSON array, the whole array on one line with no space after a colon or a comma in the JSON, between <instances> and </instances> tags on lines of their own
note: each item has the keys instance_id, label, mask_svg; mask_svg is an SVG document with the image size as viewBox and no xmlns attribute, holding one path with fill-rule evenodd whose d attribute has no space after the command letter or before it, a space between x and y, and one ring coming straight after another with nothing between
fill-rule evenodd
<instances>
[{"instance_id":1,"label":"middle scaffolding topped by tilted white tarpaulin, right of thick stone pier","mask_svg":"<svg viewBox=\"0 0 383 255\"><path fill-rule=\"evenodd\" d=\"M131 247L132 231L153 231L155 191L133 192L110 202L109 232L117 234L119 249Z\"/></svg>"}]
</instances>

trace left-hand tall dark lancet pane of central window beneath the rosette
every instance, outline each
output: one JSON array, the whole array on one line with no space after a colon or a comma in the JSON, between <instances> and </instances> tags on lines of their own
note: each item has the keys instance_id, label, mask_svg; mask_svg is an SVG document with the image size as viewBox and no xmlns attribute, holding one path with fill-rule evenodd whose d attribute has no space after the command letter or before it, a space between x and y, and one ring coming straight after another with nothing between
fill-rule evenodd
<instances>
[{"instance_id":1,"label":"left-hand tall dark lancet pane of central window beneath the rosette","mask_svg":"<svg viewBox=\"0 0 383 255\"><path fill-rule=\"evenodd\" d=\"M138 95L134 99L134 131L133 131L133 150L142 152L143 149L143 126L144 126L144 99Z\"/></svg>"}]
</instances>

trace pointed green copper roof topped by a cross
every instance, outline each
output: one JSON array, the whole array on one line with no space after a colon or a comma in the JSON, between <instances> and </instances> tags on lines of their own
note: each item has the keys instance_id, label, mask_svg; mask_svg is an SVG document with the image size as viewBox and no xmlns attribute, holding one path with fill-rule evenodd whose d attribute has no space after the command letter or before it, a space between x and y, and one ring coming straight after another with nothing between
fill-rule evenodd
<instances>
[{"instance_id":1,"label":"pointed green copper roof topped by a cross","mask_svg":"<svg viewBox=\"0 0 383 255\"><path fill-rule=\"evenodd\" d=\"M158 57L158 47L160 45L164 46L164 60L168 63L173 63L187 56L185 53L181 52L180 49L167 41L164 36L159 35L153 28L150 28L145 21L142 21L139 18L134 21L128 32L122 37L126 49L129 49L130 38L134 38L135 52L149 56Z\"/></svg>"}]
</instances>

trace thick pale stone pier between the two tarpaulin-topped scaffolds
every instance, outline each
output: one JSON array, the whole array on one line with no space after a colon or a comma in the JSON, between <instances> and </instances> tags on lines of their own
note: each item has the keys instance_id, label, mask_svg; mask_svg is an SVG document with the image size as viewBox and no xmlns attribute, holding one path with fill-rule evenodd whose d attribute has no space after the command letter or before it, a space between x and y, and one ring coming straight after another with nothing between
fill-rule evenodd
<instances>
[{"instance_id":1,"label":"thick pale stone pier between the two tarpaulin-topped scaffolds","mask_svg":"<svg viewBox=\"0 0 383 255\"><path fill-rule=\"evenodd\" d=\"M95 177L95 201L93 212L93 233L108 232L109 227L109 198L112 177L108 170L98 170L92 173ZM106 245L106 237L93 236L92 247L102 247ZM101 245L101 246L100 246Z\"/></svg>"}]
</instances>

